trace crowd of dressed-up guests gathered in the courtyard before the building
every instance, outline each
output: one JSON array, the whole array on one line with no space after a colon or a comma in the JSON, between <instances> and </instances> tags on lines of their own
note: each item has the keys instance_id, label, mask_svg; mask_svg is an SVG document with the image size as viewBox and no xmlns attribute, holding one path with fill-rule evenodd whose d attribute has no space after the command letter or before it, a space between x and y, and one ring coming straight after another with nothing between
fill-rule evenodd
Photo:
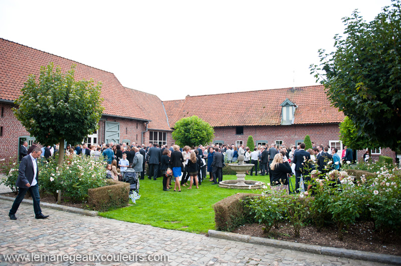
<instances>
[{"instance_id":1,"label":"crowd of dressed-up guests gathered in the courtyard before the building","mask_svg":"<svg viewBox=\"0 0 401 266\"><path fill-rule=\"evenodd\" d=\"M37 147L36 142L29 149ZM28 143L24 142L20 148L20 154L29 152ZM223 180L223 167L225 163L236 162L240 155L244 156L245 163L254 166L247 174L269 175L272 186L289 186L289 177L295 174L295 189L307 189L306 182L310 179L310 171L326 173L330 169L339 169L341 158L337 149L329 146L315 145L305 150L305 144L298 146L287 146L272 143L245 147L240 145L211 144L197 147L179 147L174 143L159 145L150 142L148 146L132 142L127 143L101 143L101 144L78 144L75 147L67 144L66 155L84 154L95 159L104 156L106 165L106 176L122 180L127 168L133 168L139 179L145 178L145 172L149 179L156 180L163 177L163 190L168 191L174 182L174 191L181 191L181 186L191 189L194 185L199 188L202 181L207 178L212 184L219 184ZM42 147L42 156L49 158L58 152L58 145ZM352 161L352 150L344 147L342 159ZM306 163L315 161L315 164ZM311 166L312 165L312 166ZM316 169L314 168L317 165ZM329 165L330 167L328 167ZM308 169L307 169L308 168ZM188 183L189 181L189 183Z\"/></svg>"}]
</instances>

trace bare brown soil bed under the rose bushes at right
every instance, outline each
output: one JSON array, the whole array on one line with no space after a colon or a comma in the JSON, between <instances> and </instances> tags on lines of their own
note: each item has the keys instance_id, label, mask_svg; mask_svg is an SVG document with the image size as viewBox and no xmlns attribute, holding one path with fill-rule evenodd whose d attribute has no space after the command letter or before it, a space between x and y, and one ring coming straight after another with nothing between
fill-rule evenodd
<instances>
[{"instance_id":1,"label":"bare brown soil bed under the rose bushes at right","mask_svg":"<svg viewBox=\"0 0 401 266\"><path fill-rule=\"evenodd\" d=\"M252 223L242 225L233 232L291 242L401 256L401 237L389 235L383 242L380 235L373 231L373 225L368 222L359 222L350 226L349 230L343 233L342 241L337 238L335 225L325 226L319 232L314 226L302 227L300 237L297 238L293 236L293 227L289 223L283 222L279 226L279 230L272 227L268 233L263 233L263 226L261 224Z\"/></svg>"}]
</instances>

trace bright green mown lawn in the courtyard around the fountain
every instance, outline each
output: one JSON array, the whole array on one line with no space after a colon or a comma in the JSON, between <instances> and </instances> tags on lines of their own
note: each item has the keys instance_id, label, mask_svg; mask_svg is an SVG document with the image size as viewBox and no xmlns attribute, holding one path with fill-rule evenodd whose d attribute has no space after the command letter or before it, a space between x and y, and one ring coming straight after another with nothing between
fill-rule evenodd
<instances>
[{"instance_id":1,"label":"bright green mown lawn in the courtyard around the fountain","mask_svg":"<svg viewBox=\"0 0 401 266\"><path fill-rule=\"evenodd\" d=\"M235 175L224 175L223 180L236 179ZM269 176L249 176L247 180L269 182ZM295 179L295 177L294 177ZM189 183L189 182L188 182ZM293 185L295 182L293 180ZM172 182L174 187L174 182ZM215 212L212 205L235 193L260 193L254 189L229 189L212 185L205 179L199 189L181 187L181 192L163 191L162 178L140 180L141 198L132 206L102 212L99 215L107 218L150 224L152 226L182 230L195 233L207 233L215 228ZM132 201L130 201L132 203Z\"/></svg>"}]
</instances>

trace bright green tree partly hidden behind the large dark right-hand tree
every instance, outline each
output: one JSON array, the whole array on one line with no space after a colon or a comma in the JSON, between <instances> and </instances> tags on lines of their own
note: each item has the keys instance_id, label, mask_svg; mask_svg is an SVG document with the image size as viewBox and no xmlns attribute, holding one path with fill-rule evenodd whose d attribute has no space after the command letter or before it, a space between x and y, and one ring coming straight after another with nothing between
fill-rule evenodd
<instances>
[{"instance_id":1,"label":"bright green tree partly hidden behind the large dark right-hand tree","mask_svg":"<svg viewBox=\"0 0 401 266\"><path fill-rule=\"evenodd\" d=\"M340 123L340 140L351 149L367 148L369 150L369 158L371 158L370 150L380 146L378 142L371 141L348 116L345 116L344 121Z\"/></svg>"}]
</instances>

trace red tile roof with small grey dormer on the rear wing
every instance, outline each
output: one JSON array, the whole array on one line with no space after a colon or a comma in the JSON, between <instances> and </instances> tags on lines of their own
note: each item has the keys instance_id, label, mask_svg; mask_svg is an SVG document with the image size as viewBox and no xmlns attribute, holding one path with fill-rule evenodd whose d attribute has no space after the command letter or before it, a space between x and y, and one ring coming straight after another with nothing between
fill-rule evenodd
<instances>
[{"instance_id":1,"label":"red tile roof with small grey dormer on the rear wing","mask_svg":"<svg viewBox=\"0 0 401 266\"><path fill-rule=\"evenodd\" d=\"M286 98L298 106L294 124L339 123L344 119L342 112L330 106L323 85L186 96L163 103L172 127L191 115L212 126L279 125L280 104Z\"/></svg>"}]
</instances>

